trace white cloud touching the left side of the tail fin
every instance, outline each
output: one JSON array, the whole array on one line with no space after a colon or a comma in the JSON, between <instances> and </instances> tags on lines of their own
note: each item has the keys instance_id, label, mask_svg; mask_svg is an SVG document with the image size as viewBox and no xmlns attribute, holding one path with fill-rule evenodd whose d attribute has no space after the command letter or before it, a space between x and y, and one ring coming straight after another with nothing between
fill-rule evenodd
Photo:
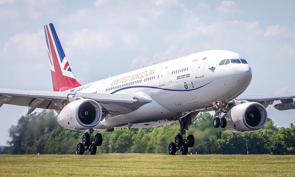
<instances>
[{"instance_id":1,"label":"white cloud touching the left side of the tail fin","mask_svg":"<svg viewBox=\"0 0 295 177\"><path fill-rule=\"evenodd\" d=\"M44 55L45 43L43 29L32 34L25 31L10 37L9 41L4 44L4 51L8 52L8 49L12 49L13 51L17 50L17 54L20 56L41 56Z\"/></svg>"}]
</instances>

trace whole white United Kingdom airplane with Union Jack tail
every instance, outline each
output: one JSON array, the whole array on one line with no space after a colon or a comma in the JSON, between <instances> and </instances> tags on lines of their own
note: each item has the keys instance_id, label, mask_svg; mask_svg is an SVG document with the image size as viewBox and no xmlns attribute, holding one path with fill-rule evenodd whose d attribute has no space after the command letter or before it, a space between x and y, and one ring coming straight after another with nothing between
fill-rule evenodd
<instances>
[{"instance_id":1,"label":"whole white United Kingdom airplane with Union Jack tail","mask_svg":"<svg viewBox=\"0 0 295 177\"><path fill-rule=\"evenodd\" d=\"M74 77L52 23L44 26L53 91L0 89L3 104L55 110L58 124L86 130L77 154L96 154L102 135L94 130L152 128L179 121L180 130L168 145L171 155L188 153L194 136L186 136L192 120L214 111L213 126L236 132L261 129L266 108L275 100L279 111L295 109L295 93L240 96L252 79L250 65L227 50L207 50L155 63L81 85Z\"/></svg>"}]
</instances>

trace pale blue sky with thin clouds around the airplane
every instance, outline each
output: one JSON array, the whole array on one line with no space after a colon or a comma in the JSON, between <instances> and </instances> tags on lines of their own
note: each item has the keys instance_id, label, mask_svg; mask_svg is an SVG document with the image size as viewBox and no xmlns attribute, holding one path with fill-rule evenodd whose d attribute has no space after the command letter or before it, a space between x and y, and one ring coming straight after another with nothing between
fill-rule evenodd
<instances>
[{"instance_id":1,"label":"pale blue sky with thin clouds around the airplane","mask_svg":"<svg viewBox=\"0 0 295 177\"><path fill-rule=\"evenodd\" d=\"M81 84L208 48L247 59L253 77L242 95L294 93L294 7L292 0L0 0L0 88L53 90L43 28L52 22ZM0 108L0 144L27 110ZM267 111L277 126L295 123L295 110Z\"/></svg>"}]
</instances>

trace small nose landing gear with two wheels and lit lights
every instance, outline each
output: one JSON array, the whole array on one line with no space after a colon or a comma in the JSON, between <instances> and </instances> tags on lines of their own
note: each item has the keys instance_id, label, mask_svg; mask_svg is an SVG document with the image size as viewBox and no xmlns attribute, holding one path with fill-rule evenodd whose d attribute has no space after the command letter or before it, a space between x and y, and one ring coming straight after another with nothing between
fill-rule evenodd
<instances>
[{"instance_id":1,"label":"small nose landing gear with two wheels and lit lights","mask_svg":"<svg viewBox=\"0 0 295 177\"><path fill-rule=\"evenodd\" d=\"M226 104L224 101L220 102L213 102L213 106L214 108L217 110L218 113L218 117L215 117L213 120L213 126L215 128L218 128L219 126L221 128L225 128L227 121L225 117L222 117L221 114L226 112L226 108L227 108L228 103Z\"/></svg>"}]
</instances>

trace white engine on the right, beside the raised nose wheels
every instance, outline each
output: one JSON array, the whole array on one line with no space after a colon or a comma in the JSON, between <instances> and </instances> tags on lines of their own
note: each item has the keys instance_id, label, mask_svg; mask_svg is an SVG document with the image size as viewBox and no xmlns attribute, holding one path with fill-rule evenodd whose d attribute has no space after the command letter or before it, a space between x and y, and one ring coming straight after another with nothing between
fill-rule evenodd
<instances>
[{"instance_id":1,"label":"white engine on the right, beside the raised nose wheels","mask_svg":"<svg viewBox=\"0 0 295 177\"><path fill-rule=\"evenodd\" d=\"M250 132L261 129L267 121L267 111L263 105L247 102L232 107L227 114L225 129L237 132Z\"/></svg>"}]
</instances>

